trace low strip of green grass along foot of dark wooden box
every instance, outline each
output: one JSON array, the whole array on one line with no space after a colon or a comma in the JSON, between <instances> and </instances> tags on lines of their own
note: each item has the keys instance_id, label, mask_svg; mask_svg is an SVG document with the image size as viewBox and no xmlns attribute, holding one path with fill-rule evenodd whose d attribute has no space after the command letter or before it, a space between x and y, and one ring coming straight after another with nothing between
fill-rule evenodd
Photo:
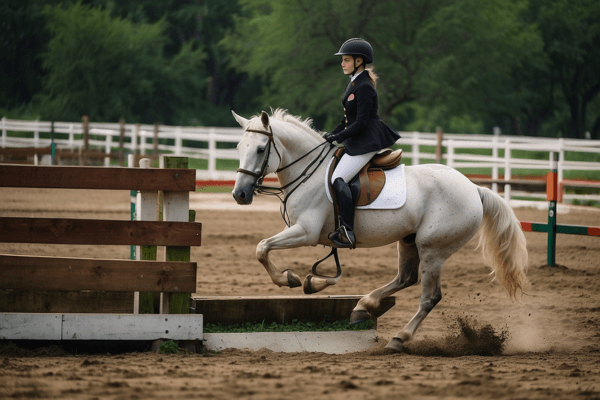
<instances>
[{"instance_id":1,"label":"low strip of green grass along foot of dark wooden box","mask_svg":"<svg viewBox=\"0 0 600 400\"><path fill-rule=\"evenodd\" d=\"M264 321L246 322L243 324L232 324L223 326L221 324L206 324L206 333L246 333L246 332L334 332L334 331L364 331L374 329L373 321L365 321L356 325L350 325L349 320L321 322L292 320L290 323L278 324L273 322L265 324Z\"/></svg>"}]
</instances>

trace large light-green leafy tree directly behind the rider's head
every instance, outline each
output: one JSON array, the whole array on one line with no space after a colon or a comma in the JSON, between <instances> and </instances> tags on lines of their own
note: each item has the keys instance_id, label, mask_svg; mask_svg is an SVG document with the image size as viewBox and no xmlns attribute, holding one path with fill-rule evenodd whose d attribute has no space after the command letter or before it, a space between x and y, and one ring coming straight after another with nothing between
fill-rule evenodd
<instances>
[{"instance_id":1,"label":"large light-green leafy tree directly behind the rider's head","mask_svg":"<svg viewBox=\"0 0 600 400\"><path fill-rule=\"evenodd\" d=\"M542 47L519 18L524 0L242 1L248 17L222 45L233 65L265 80L264 102L332 125L346 84L333 57L350 37L375 50L380 115L408 102L481 116L515 107L510 75ZM332 117L335 115L334 117Z\"/></svg>"}]
</instances>

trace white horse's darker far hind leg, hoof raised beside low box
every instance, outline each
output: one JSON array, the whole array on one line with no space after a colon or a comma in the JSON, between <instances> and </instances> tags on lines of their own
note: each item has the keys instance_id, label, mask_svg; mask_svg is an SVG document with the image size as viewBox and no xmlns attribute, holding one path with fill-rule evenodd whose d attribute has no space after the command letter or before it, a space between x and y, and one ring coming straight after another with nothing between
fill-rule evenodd
<instances>
[{"instance_id":1,"label":"white horse's darker far hind leg, hoof raised beside low box","mask_svg":"<svg viewBox=\"0 0 600 400\"><path fill-rule=\"evenodd\" d=\"M419 251L417 246L398 242L398 275L387 285L364 296L350 315L350 323L356 324L371 319L377 313L381 300L399 290L414 285L419 280Z\"/></svg>"}]
</instances>

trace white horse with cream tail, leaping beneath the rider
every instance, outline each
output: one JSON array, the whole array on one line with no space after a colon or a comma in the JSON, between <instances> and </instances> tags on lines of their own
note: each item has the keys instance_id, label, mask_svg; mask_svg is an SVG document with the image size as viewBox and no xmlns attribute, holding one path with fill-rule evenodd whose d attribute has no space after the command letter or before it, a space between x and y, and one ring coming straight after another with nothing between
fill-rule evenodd
<instances>
[{"instance_id":1,"label":"white horse with cream tail, leaping beneath the rider","mask_svg":"<svg viewBox=\"0 0 600 400\"><path fill-rule=\"evenodd\" d=\"M269 253L301 246L332 246L327 235L334 230L334 211L324 182L334 149L312 129L310 119L302 121L285 110L275 110L271 117L263 111L249 120L235 112L233 115L245 130L237 146L240 169L233 197L239 204L252 203L262 178L277 174L289 227L262 240L256 256L275 284L298 287L298 275L290 269L279 269ZM402 343L412 339L441 300L444 262L478 230L484 259L511 298L519 290L522 293L527 283L525 236L512 209L500 196L445 166L417 165L405 170L406 204L392 210L359 209L354 223L357 247L397 242L399 266L398 275L390 283L361 298L352 312L352 323L376 314L382 299L414 285L421 273L419 310L386 346L392 351L402 350ZM317 292L338 279L309 275L304 282L305 292Z\"/></svg>"}]
</instances>

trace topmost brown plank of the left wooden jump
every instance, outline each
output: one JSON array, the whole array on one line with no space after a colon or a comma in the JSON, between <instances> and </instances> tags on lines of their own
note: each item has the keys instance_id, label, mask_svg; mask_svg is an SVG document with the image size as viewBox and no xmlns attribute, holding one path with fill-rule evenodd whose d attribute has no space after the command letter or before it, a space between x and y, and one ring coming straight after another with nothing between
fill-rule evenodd
<instances>
[{"instance_id":1,"label":"topmost brown plank of the left wooden jump","mask_svg":"<svg viewBox=\"0 0 600 400\"><path fill-rule=\"evenodd\" d=\"M194 169L0 165L0 187L196 190Z\"/></svg>"}]
</instances>

